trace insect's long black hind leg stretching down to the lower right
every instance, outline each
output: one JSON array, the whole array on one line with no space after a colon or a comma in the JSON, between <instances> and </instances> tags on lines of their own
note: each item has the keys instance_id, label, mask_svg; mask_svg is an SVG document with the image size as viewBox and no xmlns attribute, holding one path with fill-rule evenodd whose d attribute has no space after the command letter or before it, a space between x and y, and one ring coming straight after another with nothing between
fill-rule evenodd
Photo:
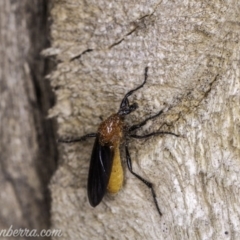
<instances>
[{"instance_id":1,"label":"insect's long black hind leg stretching down to the lower right","mask_svg":"<svg viewBox=\"0 0 240 240\"><path fill-rule=\"evenodd\" d=\"M126 150L127 166L128 166L129 171L136 178L138 178L140 181L142 181L148 188L150 188L152 196L153 196L153 201L155 203L157 211L158 211L159 215L162 216L162 213L160 211L160 208L158 206L158 202L157 202L157 199L156 199L156 193L155 193L155 191L153 189L153 184L148 182L147 180L145 180L143 177L139 176L137 173L133 172L133 170L132 170L132 160L131 160L131 157L130 157L130 154L129 154L129 151L128 151L128 146L125 146L125 150Z\"/></svg>"}]
</instances>

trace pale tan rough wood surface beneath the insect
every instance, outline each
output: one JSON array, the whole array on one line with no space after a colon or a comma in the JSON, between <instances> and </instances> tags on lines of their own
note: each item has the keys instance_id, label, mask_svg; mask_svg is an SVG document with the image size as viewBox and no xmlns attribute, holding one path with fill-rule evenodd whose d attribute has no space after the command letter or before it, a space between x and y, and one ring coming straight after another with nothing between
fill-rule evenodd
<instances>
[{"instance_id":1,"label":"pale tan rough wood surface beneath the insect","mask_svg":"<svg viewBox=\"0 0 240 240\"><path fill-rule=\"evenodd\" d=\"M139 134L181 135L130 144L133 168L154 183L161 218L125 164L123 189L90 207L93 140L61 144L51 191L63 239L239 239L239 1L59 0L51 15L45 54L61 61L51 75L59 135L96 131L142 83L146 66L148 82L130 99L140 107L127 121L164 109Z\"/></svg>"}]
</instances>

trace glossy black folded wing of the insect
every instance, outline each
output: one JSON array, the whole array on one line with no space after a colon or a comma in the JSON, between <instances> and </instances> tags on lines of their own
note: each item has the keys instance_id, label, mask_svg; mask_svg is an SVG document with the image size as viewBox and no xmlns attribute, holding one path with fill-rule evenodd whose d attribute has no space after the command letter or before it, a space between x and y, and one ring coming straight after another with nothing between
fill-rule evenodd
<instances>
[{"instance_id":1,"label":"glossy black folded wing of the insect","mask_svg":"<svg viewBox=\"0 0 240 240\"><path fill-rule=\"evenodd\" d=\"M96 137L88 173L88 199L96 207L106 193L113 163L113 150L102 146Z\"/></svg>"}]
</instances>

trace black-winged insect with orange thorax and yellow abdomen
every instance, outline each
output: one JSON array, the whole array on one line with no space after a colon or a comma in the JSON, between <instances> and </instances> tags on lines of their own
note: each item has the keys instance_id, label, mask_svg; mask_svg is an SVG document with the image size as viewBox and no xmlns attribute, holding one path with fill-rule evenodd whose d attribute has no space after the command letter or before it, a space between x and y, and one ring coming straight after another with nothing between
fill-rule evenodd
<instances>
[{"instance_id":1,"label":"black-winged insect with orange thorax and yellow abdomen","mask_svg":"<svg viewBox=\"0 0 240 240\"><path fill-rule=\"evenodd\" d=\"M137 90L142 88L148 77L148 67L145 68L144 81L135 89L126 93L121 101L120 108L117 113L112 114L103 121L97 133L89 133L82 137L59 139L59 142L72 143L84 141L87 138L95 137L95 143L92 150L92 156L88 174L88 199L92 207L96 207L103 199L106 191L117 193L123 185L123 168L120 157L120 147L125 148L126 161L129 171L140 181L142 181L150 190L159 215L160 211L156 193L153 184L133 171L132 161L128 150L128 140L130 138L145 139L151 136L171 134L176 137L179 135L171 132L152 132L146 135L137 135L136 130L144 126L149 120L154 119L163 113L163 110L157 114L150 116L142 122L126 126L124 118L138 108L137 103L130 104L128 98Z\"/></svg>"}]
</instances>

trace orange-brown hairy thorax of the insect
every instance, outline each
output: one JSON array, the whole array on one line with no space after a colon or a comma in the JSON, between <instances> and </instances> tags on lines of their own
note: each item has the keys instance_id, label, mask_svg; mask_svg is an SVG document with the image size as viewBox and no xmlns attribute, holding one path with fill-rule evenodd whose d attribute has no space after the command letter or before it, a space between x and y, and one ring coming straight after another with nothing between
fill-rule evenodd
<instances>
[{"instance_id":1,"label":"orange-brown hairy thorax of the insect","mask_svg":"<svg viewBox=\"0 0 240 240\"><path fill-rule=\"evenodd\" d=\"M110 147L119 145L123 137L123 126L123 117L117 113L108 117L98 128L100 144Z\"/></svg>"}]
</instances>

